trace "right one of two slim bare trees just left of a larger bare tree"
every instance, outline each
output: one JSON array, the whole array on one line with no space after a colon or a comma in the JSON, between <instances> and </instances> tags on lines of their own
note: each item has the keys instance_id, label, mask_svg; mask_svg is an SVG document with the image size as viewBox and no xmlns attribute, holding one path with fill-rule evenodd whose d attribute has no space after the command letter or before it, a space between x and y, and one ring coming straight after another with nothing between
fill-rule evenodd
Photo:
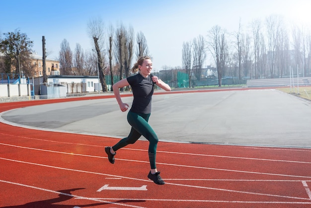
<instances>
[{"instance_id":1,"label":"right one of two slim bare trees just left of a larger bare tree","mask_svg":"<svg viewBox=\"0 0 311 208\"><path fill-rule=\"evenodd\" d=\"M205 40L202 35L193 39L193 65L194 75L199 81L201 78L201 72L203 63L206 59Z\"/></svg>"}]
</instances>

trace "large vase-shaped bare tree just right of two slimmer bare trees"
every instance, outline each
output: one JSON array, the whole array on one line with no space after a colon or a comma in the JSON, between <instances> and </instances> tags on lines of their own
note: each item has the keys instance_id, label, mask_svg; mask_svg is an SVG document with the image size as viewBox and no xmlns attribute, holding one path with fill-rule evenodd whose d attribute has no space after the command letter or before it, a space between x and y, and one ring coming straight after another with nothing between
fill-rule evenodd
<instances>
[{"instance_id":1,"label":"large vase-shaped bare tree just right of two slimmer bare trees","mask_svg":"<svg viewBox=\"0 0 311 208\"><path fill-rule=\"evenodd\" d=\"M228 59L228 44L226 31L215 25L208 33L208 49L211 52L217 67L218 86L222 86L222 76L225 73L226 60Z\"/></svg>"}]
</instances>

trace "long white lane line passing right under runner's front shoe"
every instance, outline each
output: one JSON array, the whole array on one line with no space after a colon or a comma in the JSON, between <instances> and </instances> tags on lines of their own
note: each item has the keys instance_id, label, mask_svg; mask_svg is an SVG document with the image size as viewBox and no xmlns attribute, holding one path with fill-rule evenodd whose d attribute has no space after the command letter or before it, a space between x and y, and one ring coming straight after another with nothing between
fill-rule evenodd
<instances>
[{"instance_id":1,"label":"long white lane line passing right under runner's front shoe","mask_svg":"<svg viewBox=\"0 0 311 208\"><path fill-rule=\"evenodd\" d=\"M76 170L76 169L69 169L69 168L62 168L62 167L56 167L56 166L50 166L50 165L43 165L43 164L37 164L37 163L30 163L25 161L19 161L19 160L12 160L7 158L1 158L2 160L12 161L12 162L19 162L24 164L30 164L30 165L37 165L37 166L43 166L48 168L55 168L60 170L68 170L68 171L76 171L80 173L89 173L89 174L96 174L96 175L103 175L103 176L111 176L111 177L119 177L124 179L131 179L131 180L137 180L137 181L144 181L144 182L152 182L150 180L145 179L138 179L138 178L130 178L130 177L124 177L124 176L116 176L116 175L110 175L110 174L104 174L104 173L96 173L96 172L90 172L90 171L83 171L83 170ZM233 193L241 193L241 194L251 194L251 195L259 195L259 196L269 196L269 197L281 197L281 198L288 198L288 199L299 199L299 200L309 200L306 198L299 198L299 197L289 197L289 196L280 196L280 195L271 195L271 194L261 194L261 193L253 193L253 192L242 192L242 191L235 191L235 190L228 190L228 189L218 189L218 188L211 188L211 187L202 187L202 186L193 186L193 185L185 185L185 184L173 184L173 183L165 183L167 185L173 185L173 186L182 186L182 187L190 187L190 188L198 188L198 189L207 189L207 190L216 190L216 191L224 191L224 192L233 192Z\"/></svg>"}]
</instances>

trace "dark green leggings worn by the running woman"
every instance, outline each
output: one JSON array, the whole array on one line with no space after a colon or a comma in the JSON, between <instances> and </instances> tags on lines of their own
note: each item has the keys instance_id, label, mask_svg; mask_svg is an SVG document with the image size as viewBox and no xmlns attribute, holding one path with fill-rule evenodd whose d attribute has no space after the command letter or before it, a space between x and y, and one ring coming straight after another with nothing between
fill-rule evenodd
<instances>
[{"instance_id":1,"label":"dark green leggings worn by the running woman","mask_svg":"<svg viewBox=\"0 0 311 208\"><path fill-rule=\"evenodd\" d=\"M158 138L156 132L148 123L149 117L150 113L135 113L129 111L127 120L132 126L131 132L128 137L121 139L112 149L113 151L117 151L128 144L134 144L141 135L143 135L149 141L148 155L151 169L156 169L156 146Z\"/></svg>"}]
</instances>

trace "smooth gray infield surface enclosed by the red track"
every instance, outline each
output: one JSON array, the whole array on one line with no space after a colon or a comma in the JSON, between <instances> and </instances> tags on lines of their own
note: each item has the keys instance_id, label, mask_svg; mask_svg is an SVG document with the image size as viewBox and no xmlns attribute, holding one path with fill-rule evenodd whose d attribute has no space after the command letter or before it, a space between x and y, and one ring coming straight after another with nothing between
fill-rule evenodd
<instances>
[{"instance_id":1,"label":"smooth gray infield surface enclosed by the red track","mask_svg":"<svg viewBox=\"0 0 311 208\"><path fill-rule=\"evenodd\" d=\"M132 97L122 98L132 104ZM2 119L32 127L126 137L127 112L114 98L18 108ZM160 140L311 147L311 103L278 90L153 96L149 123Z\"/></svg>"}]
</instances>

